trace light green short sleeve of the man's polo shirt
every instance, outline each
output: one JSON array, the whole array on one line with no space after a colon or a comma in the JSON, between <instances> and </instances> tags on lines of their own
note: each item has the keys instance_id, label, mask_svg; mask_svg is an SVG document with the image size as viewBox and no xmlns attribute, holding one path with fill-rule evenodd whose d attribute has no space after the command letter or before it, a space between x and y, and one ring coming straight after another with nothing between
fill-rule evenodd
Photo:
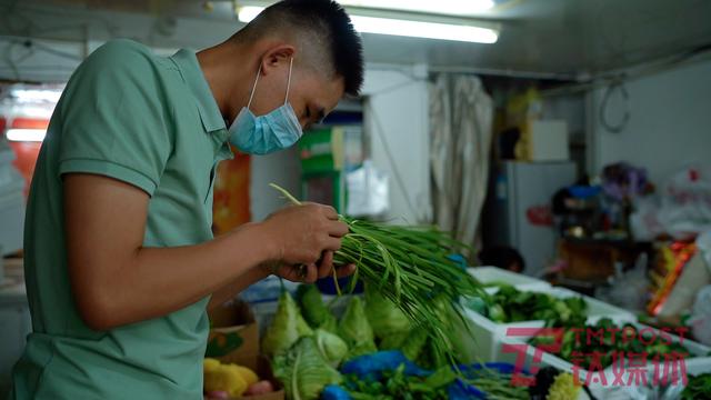
<instances>
[{"instance_id":1,"label":"light green short sleeve of the man's polo shirt","mask_svg":"<svg viewBox=\"0 0 711 400\"><path fill-rule=\"evenodd\" d=\"M79 67L59 106L60 176L97 173L153 194L172 151L157 68L147 49L126 40Z\"/></svg>"}]
</instances>

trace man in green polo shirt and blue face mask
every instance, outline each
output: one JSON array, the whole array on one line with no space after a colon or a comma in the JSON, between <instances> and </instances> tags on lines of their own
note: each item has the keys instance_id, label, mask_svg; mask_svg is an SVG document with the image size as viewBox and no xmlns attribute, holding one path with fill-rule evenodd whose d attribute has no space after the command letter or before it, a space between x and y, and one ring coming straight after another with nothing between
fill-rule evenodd
<instances>
[{"instance_id":1,"label":"man in green polo shirt and blue face mask","mask_svg":"<svg viewBox=\"0 0 711 400\"><path fill-rule=\"evenodd\" d=\"M206 310L270 273L328 276L348 231L332 208L306 204L213 239L217 163L229 141L293 144L362 79L360 39L330 0L277 3L197 56L119 40L89 57L32 181L33 332L12 397L200 399Z\"/></svg>"}]
</instances>

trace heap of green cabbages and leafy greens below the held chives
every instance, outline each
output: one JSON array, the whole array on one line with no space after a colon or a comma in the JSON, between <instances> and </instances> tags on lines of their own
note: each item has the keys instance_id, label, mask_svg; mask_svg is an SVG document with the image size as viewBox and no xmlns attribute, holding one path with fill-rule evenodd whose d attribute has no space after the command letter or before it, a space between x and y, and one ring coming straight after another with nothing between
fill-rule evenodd
<instances>
[{"instance_id":1,"label":"heap of green cabbages and leafy greens below the held chives","mask_svg":"<svg viewBox=\"0 0 711 400\"><path fill-rule=\"evenodd\" d=\"M512 398L510 376L460 376L451 368L451 359L442 357L435 348L434 339L372 287L365 286L362 299L357 296L349 299L340 320L323 303L314 286L301 286L297 298L298 302L289 292L282 292L277 313L262 338L262 351L271 358L274 377L283 384L288 399L318 399L326 387L333 384L347 388L353 399L370 396L395 399L400 397L388 393L402 394L405 387L417 392L417 399L440 399L447 398L448 384L462 378L467 383L481 384ZM444 314L450 311L444 304L444 298L437 297L431 299L430 307L442 313L441 318L451 318ZM463 334L462 330L467 332L463 327L447 332L455 348L457 333ZM400 363L368 379L356 379L346 370L344 374L339 372L339 367L349 360L353 362L383 350L398 350L403 361L435 372L412 377L403 373Z\"/></svg>"}]
</instances>

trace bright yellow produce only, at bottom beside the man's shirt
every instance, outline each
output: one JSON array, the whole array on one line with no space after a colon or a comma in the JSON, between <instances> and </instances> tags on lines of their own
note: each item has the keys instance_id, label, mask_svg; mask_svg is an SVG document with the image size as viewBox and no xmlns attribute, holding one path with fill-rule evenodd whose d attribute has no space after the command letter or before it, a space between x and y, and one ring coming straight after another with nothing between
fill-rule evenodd
<instances>
[{"instance_id":1,"label":"bright yellow produce only, at bottom beside the man's shirt","mask_svg":"<svg viewBox=\"0 0 711 400\"><path fill-rule=\"evenodd\" d=\"M240 397L247 388L259 381L257 373L247 367L223 364L216 359L204 359L204 391L226 391L230 397Z\"/></svg>"}]
</instances>

